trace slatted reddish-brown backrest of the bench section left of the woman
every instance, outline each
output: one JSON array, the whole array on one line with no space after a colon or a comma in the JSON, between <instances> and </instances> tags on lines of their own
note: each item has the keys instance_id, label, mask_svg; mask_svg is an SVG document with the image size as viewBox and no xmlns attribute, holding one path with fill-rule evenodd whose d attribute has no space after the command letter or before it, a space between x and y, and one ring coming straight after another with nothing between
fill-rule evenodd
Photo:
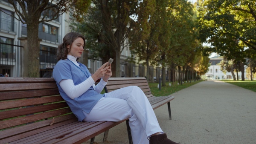
<instances>
[{"instance_id":1,"label":"slatted reddish-brown backrest of the bench section left of the woman","mask_svg":"<svg viewBox=\"0 0 256 144\"><path fill-rule=\"evenodd\" d=\"M0 130L33 122L36 129L74 117L53 78L0 78Z\"/></svg>"}]
</instances>

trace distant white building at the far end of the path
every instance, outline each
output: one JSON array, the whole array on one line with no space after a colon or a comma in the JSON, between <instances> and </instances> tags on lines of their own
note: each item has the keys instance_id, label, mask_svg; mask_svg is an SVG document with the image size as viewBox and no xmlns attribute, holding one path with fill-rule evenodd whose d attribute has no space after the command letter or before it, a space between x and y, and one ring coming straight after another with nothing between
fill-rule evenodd
<instances>
[{"instance_id":1,"label":"distant white building at the far end of the path","mask_svg":"<svg viewBox=\"0 0 256 144\"><path fill-rule=\"evenodd\" d=\"M226 79L233 79L233 76L231 72L227 72L224 74L221 71L221 66L217 65L218 63L221 62L223 58L219 58L219 56L215 56L210 58L209 63L211 63L211 66L209 66L209 71L205 74L207 79L213 79L213 80L226 80ZM246 65L244 65L244 76L246 76L245 69L247 68ZM236 78L237 74L234 72ZM238 72L238 78L241 79L241 72Z\"/></svg>"}]
</instances>

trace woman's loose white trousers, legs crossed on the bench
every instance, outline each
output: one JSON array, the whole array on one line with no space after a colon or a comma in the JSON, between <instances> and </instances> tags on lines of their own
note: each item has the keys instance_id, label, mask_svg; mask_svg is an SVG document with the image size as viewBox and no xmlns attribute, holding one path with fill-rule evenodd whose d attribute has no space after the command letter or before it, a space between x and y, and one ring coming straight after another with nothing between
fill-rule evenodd
<instances>
[{"instance_id":1,"label":"woman's loose white trousers, legs crossed on the bench","mask_svg":"<svg viewBox=\"0 0 256 144\"><path fill-rule=\"evenodd\" d=\"M128 86L105 94L84 121L121 121L129 118L134 144L149 144L148 137L161 132L154 111L138 86Z\"/></svg>"}]
</instances>

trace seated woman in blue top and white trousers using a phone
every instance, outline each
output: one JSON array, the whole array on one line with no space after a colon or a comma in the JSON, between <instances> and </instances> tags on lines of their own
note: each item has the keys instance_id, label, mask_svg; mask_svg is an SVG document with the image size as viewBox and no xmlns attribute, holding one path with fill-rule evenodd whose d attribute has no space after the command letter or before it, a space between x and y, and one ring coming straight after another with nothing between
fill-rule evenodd
<instances>
[{"instance_id":1,"label":"seated woman in blue top and white trousers using a phone","mask_svg":"<svg viewBox=\"0 0 256 144\"><path fill-rule=\"evenodd\" d=\"M161 130L139 87L128 86L100 94L112 75L111 65L104 63L91 75L85 65L77 62L84 51L84 43L84 37L78 33L65 35L63 43L58 46L58 63L53 69L59 92L78 120L121 121L129 118L134 144L177 144ZM102 79L95 86L99 78Z\"/></svg>"}]
</instances>

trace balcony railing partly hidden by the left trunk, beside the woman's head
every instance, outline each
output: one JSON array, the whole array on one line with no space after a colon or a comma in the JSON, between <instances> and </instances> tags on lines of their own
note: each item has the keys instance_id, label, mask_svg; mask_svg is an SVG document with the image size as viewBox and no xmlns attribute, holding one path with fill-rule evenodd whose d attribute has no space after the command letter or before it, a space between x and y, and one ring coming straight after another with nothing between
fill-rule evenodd
<instances>
[{"instance_id":1,"label":"balcony railing partly hidden by the left trunk, beside the woman's head","mask_svg":"<svg viewBox=\"0 0 256 144\"><path fill-rule=\"evenodd\" d=\"M21 34L27 35L27 28L25 26L22 26ZM61 43L61 35L52 35L46 32L38 31L38 37L42 40L47 40L53 43Z\"/></svg>"}]
</instances>

